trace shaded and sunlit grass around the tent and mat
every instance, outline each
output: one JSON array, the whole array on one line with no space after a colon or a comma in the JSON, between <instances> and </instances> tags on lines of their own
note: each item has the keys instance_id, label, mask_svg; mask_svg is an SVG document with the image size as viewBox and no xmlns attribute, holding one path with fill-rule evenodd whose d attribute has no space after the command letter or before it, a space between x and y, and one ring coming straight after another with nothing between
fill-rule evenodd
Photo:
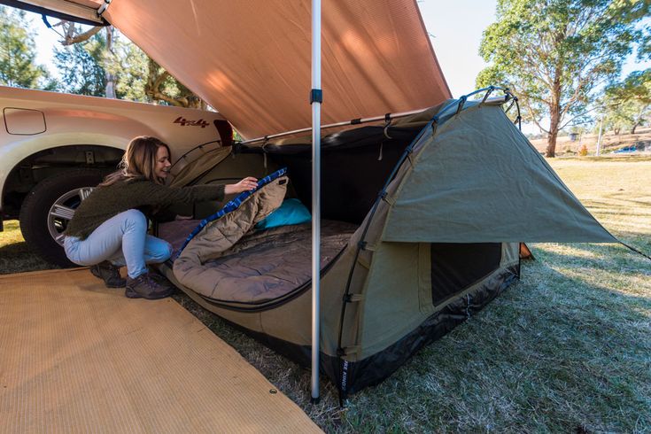
<instances>
[{"instance_id":1,"label":"shaded and sunlit grass around the tent and mat","mask_svg":"<svg viewBox=\"0 0 651 434\"><path fill-rule=\"evenodd\" d=\"M651 158L554 159L615 236L651 253ZM47 267L0 234L0 272ZM522 281L339 408L309 372L176 298L329 432L651 432L651 262L619 244L532 244ZM9 260L12 256L15 259Z\"/></svg>"}]
</instances>

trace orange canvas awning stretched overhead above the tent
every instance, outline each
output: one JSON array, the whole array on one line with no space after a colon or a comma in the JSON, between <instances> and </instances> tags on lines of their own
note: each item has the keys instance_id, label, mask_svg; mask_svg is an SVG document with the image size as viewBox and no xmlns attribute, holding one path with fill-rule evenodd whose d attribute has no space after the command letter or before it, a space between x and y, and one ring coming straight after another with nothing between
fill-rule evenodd
<instances>
[{"instance_id":1,"label":"orange canvas awning stretched overhead above the tent","mask_svg":"<svg viewBox=\"0 0 651 434\"><path fill-rule=\"evenodd\" d=\"M309 0L112 0L103 17L251 138L311 125L310 8ZM322 89L324 124L451 97L415 0L324 0Z\"/></svg>"}]
</instances>

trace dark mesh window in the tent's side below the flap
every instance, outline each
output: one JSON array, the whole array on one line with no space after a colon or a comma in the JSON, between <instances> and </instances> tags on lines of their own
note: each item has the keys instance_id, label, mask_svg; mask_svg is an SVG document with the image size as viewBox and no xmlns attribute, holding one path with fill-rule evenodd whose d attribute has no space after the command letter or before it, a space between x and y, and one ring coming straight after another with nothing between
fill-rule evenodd
<instances>
[{"instance_id":1,"label":"dark mesh window in the tent's side below the flap","mask_svg":"<svg viewBox=\"0 0 651 434\"><path fill-rule=\"evenodd\" d=\"M431 299L437 306L500 267L500 243L431 244Z\"/></svg>"}]
</instances>

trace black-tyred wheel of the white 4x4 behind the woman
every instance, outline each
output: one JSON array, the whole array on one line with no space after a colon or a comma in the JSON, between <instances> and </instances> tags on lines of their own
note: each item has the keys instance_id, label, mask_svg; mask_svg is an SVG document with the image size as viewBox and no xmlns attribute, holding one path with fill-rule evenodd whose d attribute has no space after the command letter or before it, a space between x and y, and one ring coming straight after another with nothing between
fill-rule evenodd
<instances>
[{"instance_id":1,"label":"black-tyred wheel of the white 4x4 behind the woman","mask_svg":"<svg viewBox=\"0 0 651 434\"><path fill-rule=\"evenodd\" d=\"M59 267L77 267L66 258L63 231L81 200L102 182L104 171L71 169L36 184L20 207L20 231L29 248Z\"/></svg>"}]
</instances>

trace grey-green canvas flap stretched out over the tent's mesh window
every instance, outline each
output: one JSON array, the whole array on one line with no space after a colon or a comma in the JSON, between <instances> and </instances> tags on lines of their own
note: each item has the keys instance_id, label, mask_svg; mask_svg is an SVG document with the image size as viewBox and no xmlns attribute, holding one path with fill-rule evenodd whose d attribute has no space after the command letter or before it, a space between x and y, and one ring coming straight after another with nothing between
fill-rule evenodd
<instances>
[{"instance_id":1,"label":"grey-green canvas flap stretched out over the tent's mesh window","mask_svg":"<svg viewBox=\"0 0 651 434\"><path fill-rule=\"evenodd\" d=\"M616 242L500 107L471 107L425 135L384 241Z\"/></svg>"}]
</instances>

